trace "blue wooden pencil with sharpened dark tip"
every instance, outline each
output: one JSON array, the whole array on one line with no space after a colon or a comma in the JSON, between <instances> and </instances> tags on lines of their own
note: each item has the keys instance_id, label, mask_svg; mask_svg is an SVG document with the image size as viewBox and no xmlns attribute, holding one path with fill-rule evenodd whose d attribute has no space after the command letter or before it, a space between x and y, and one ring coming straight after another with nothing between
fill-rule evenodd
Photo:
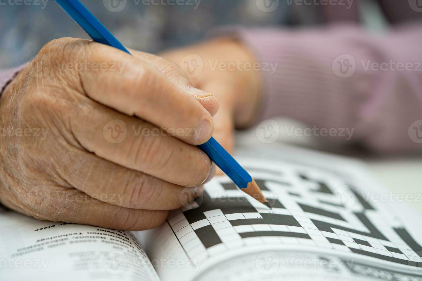
<instances>
[{"instance_id":1,"label":"blue wooden pencil with sharpened dark tip","mask_svg":"<svg viewBox=\"0 0 422 281\"><path fill-rule=\"evenodd\" d=\"M126 48L110 31L79 1L55 0L68 15L79 24L92 40L112 46L128 54ZM251 175L213 138L203 145L198 145L217 166L245 193L271 208L257 183Z\"/></svg>"}]
</instances>

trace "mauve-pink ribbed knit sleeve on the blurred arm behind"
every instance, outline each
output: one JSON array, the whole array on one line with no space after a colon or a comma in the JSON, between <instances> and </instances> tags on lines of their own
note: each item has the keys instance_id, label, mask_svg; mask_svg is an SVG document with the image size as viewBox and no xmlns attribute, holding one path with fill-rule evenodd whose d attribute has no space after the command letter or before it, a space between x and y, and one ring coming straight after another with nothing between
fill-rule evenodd
<instances>
[{"instance_id":1,"label":"mauve-pink ribbed knit sleeve on the blurred arm behind","mask_svg":"<svg viewBox=\"0 0 422 281\"><path fill-rule=\"evenodd\" d=\"M383 35L355 26L233 33L261 62L260 120L281 115L311 128L354 129L350 140L330 139L381 153L422 151L422 25Z\"/></svg>"}]
</instances>

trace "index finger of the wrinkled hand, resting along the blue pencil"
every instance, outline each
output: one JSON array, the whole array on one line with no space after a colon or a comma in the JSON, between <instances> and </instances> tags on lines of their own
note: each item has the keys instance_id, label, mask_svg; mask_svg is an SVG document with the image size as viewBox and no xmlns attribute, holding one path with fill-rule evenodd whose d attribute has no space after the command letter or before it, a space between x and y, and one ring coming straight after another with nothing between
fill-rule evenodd
<instances>
[{"instance_id":1,"label":"index finger of the wrinkled hand, resting along the blue pencil","mask_svg":"<svg viewBox=\"0 0 422 281\"><path fill-rule=\"evenodd\" d=\"M66 49L70 54L64 57L70 57L73 63L109 66L106 71L84 67L77 72L80 90L89 98L149 121L192 145L202 144L211 137L214 123L210 112L149 62L89 40L70 40L64 52ZM197 94L208 95L202 91ZM212 95L207 97L218 104Z\"/></svg>"}]
</instances>

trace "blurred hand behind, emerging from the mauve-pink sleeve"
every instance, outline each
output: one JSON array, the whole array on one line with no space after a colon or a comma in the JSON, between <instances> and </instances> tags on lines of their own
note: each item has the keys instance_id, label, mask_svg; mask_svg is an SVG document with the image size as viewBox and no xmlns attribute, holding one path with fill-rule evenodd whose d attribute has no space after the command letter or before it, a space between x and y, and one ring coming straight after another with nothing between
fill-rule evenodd
<instances>
[{"instance_id":1,"label":"blurred hand behind, emerging from the mauve-pink sleeve","mask_svg":"<svg viewBox=\"0 0 422 281\"><path fill-rule=\"evenodd\" d=\"M257 118L261 72L251 51L231 38L217 38L160 54L183 70L191 83L217 97L214 137L233 152L234 128L246 128Z\"/></svg>"}]
</instances>

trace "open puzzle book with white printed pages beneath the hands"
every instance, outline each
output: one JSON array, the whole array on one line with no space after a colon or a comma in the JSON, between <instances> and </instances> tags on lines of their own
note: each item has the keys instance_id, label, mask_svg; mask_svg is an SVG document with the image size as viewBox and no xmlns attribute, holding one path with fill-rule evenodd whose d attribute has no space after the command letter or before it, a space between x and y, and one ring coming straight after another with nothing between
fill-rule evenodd
<instances>
[{"instance_id":1,"label":"open puzzle book with white printed pages beneath the hands","mask_svg":"<svg viewBox=\"0 0 422 281\"><path fill-rule=\"evenodd\" d=\"M3 210L0 280L422 280L420 214L362 163L287 146L236 159L272 209L219 176L147 231Z\"/></svg>"}]
</instances>

